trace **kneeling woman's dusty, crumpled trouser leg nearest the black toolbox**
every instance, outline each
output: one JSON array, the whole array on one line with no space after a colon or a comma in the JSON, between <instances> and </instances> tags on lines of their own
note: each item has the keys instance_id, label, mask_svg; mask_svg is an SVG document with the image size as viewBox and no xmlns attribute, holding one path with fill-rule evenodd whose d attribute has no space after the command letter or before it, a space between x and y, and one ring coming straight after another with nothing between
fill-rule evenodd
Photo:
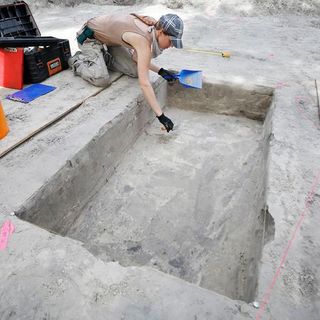
<instances>
[{"instance_id":1,"label":"kneeling woman's dusty, crumpled trouser leg nearest the black toolbox","mask_svg":"<svg viewBox=\"0 0 320 320\"><path fill-rule=\"evenodd\" d=\"M75 75L97 87L109 84L109 72L104 61L103 45L97 40L86 40L78 44L81 51L68 61Z\"/></svg>"}]
</instances>

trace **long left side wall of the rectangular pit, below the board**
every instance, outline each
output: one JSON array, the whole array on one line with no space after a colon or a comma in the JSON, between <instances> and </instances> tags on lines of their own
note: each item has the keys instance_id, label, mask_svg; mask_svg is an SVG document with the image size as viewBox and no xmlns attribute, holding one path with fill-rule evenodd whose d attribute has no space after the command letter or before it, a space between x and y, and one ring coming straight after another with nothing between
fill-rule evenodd
<instances>
[{"instance_id":1,"label":"long left side wall of the rectangular pit, below the board","mask_svg":"<svg viewBox=\"0 0 320 320\"><path fill-rule=\"evenodd\" d=\"M154 90L163 104L166 85ZM17 212L23 220L50 232L66 235L81 208L114 174L125 153L132 147L154 114L139 95L92 140L62 167Z\"/></svg>"}]
</instances>

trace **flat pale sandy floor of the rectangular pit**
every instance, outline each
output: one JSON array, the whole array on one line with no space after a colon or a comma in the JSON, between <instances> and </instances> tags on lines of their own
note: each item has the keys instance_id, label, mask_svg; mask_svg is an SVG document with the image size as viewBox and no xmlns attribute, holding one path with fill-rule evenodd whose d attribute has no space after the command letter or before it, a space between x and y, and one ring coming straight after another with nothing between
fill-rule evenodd
<instances>
[{"instance_id":1,"label":"flat pale sandy floor of the rectangular pit","mask_svg":"<svg viewBox=\"0 0 320 320\"><path fill-rule=\"evenodd\" d=\"M177 129L147 127L67 235L104 261L148 265L250 301L262 248L262 125L170 114Z\"/></svg>"}]
</instances>

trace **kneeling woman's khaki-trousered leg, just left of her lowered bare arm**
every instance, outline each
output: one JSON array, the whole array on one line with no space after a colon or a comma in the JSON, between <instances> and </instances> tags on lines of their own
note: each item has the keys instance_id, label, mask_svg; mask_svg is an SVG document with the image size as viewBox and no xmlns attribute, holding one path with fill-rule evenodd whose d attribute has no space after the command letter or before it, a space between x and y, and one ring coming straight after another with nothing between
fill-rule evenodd
<instances>
[{"instance_id":1,"label":"kneeling woman's khaki-trousered leg, just left of her lowered bare arm","mask_svg":"<svg viewBox=\"0 0 320 320\"><path fill-rule=\"evenodd\" d=\"M118 71L134 78L138 77L137 63L133 61L130 49L108 47L108 51L112 56L111 62L108 64L109 70Z\"/></svg>"}]
</instances>

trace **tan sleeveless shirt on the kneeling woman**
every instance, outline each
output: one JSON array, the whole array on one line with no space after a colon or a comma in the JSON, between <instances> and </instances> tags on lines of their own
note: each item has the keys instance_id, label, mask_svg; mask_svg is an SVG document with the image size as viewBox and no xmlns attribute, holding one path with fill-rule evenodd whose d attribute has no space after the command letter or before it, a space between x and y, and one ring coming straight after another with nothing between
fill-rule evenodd
<instances>
[{"instance_id":1,"label":"tan sleeveless shirt on the kneeling woman","mask_svg":"<svg viewBox=\"0 0 320 320\"><path fill-rule=\"evenodd\" d=\"M90 19L87 22L89 28L94 31L94 37L105 43L107 46L124 46L132 48L127 42L122 40L125 32L134 32L145 37L150 45L152 44L152 33L149 32L150 27L145 23L141 23L141 29L135 23L138 18L126 15L103 15Z\"/></svg>"}]
</instances>

